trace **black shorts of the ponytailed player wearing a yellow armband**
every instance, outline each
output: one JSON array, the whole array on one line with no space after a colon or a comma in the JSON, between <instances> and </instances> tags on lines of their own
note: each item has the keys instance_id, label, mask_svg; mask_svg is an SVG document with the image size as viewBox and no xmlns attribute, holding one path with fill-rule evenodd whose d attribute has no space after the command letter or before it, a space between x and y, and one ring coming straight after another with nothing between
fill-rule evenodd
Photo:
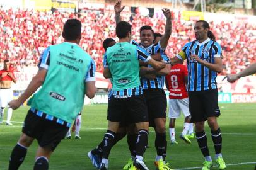
<instances>
[{"instance_id":1,"label":"black shorts of the ponytailed player wearing a yellow armband","mask_svg":"<svg viewBox=\"0 0 256 170\"><path fill-rule=\"evenodd\" d=\"M189 91L189 110L191 122L206 121L209 117L218 117L218 90Z\"/></svg>"}]
</instances>

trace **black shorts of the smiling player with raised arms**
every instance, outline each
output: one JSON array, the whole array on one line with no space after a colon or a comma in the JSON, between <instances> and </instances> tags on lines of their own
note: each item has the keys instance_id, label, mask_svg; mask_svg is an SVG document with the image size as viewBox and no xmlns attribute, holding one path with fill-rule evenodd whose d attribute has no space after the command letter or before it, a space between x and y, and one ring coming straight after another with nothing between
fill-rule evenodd
<instances>
[{"instance_id":1,"label":"black shorts of the smiling player with raised arms","mask_svg":"<svg viewBox=\"0 0 256 170\"><path fill-rule=\"evenodd\" d=\"M143 89L148 107L149 126L155 127L155 118L166 118L167 100L163 89Z\"/></svg>"}]
</instances>

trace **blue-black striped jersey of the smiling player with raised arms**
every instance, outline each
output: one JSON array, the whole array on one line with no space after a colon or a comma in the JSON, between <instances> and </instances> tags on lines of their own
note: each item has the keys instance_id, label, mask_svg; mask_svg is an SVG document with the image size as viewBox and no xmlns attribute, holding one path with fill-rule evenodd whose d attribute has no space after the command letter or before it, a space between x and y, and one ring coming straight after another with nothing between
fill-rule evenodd
<instances>
[{"instance_id":1,"label":"blue-black striped jersey of the smiling player with raised arms","mask_svg":"<svg viewBox=\"0 0 256 170\"><path fill-rule=\"evenodd\" d=\"M147 48L143 47L141 43L137 43L134 40L131 43L141 48L144 48L150 55L154 55L159 52L161 54L162 59L166 63L169 63L169 58L165 54L165 49L161 47L160 42L158 42L157 45L152 44ZM148 64L147 67L151 67L151 65ZM143 87L143 89L163 89L163 86L165 86L164 84L165 76L156 76L156 79L153 80L141 77L141 86Z\"/></svg>"}]
</instances>

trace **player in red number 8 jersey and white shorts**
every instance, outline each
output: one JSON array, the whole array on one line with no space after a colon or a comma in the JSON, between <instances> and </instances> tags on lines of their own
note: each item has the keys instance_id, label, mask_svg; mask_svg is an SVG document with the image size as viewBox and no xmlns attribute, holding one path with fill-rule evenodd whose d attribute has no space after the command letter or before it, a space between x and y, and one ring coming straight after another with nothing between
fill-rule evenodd
<instances>
[{"instance_id":1,"label":"player in red number 8 jersey and white shorts","mask_svg":"<svg viewBox=\"0 0 256 170\"><path fill-rule=\"evenodd\" d=\"M169 132L171 137L171 144L178 144L175 140L175 120L180 117L180 112L182 111L185 116L184 127L180 138L187 143L191 143L187 132L189 132L190 125L190 113L189 113L189 97L187 94L186 84L187 84L187 67L183 65L183 62L173 65L170 69L170 73L165 76L166 88L169 90ZM193 133L192 133L193 134ZM192 137L191 134L189 136Z\"/></svg>"}]
</instances>

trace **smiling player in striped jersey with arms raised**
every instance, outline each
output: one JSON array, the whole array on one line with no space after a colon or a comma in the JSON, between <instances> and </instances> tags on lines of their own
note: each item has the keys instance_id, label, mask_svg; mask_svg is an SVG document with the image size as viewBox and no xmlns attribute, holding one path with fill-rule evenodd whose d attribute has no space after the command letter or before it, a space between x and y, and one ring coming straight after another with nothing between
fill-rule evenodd
<instances>
[{"instance_id":1,"label":"smiling player in striped jersey with arms raised","mask_svg":"<svg viewBox=\"0 0 256 170\"><path fill-rule=\"evenodd\" d=\"M119 1L115 6L115 20L119 23L121 20L120 13L124 7L121 7ZM133 44L144 48L150 55L160 53L160 57L156 60L164 60L166 63L169 62L168 57L164 54L165 48L168 44L168 40L172 33L172 16L169 9L162 9L163 14L166 17L165 33L161 37L160 42L157 45L153 44L154 31L151 26L145 25L140 28L140 41L141 43L132 42ZM155 165L157 169L167 169L168 166L165 164L167 142L166 142L166 94L163 90L165 83L165 75L170 71L170 65L166 64L164 69L156 71L151 67L152 65L146 64L141 67L141 85L143 86L143 95L146 98L149 115L149 125L154 127L156 132L155 147L156 147L156 158ZM152 76L152 74L154 74ZM127 162L128 164L129 162Z\"/></svg>"}]
</instances>

